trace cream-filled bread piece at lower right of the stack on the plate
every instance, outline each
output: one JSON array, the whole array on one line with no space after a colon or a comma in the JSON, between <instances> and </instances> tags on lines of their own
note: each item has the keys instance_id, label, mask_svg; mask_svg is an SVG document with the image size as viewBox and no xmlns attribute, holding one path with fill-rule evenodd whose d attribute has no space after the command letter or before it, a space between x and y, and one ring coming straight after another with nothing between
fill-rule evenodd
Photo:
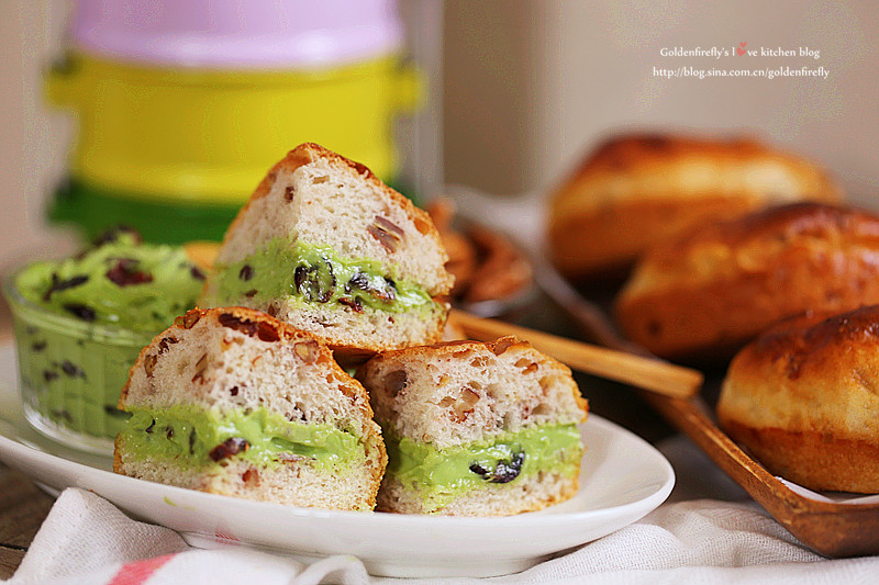
<instances>
[{"instance_id":1,"label":"cream-filled bread piece at lower right of the stack on the plate","mask_svg":"<svg viewBox=\"0 0 879 585\"><path fill-rule=\"evenodd\" d=\"M389 351L358 378L389 453L377 509L510 515L577 492L587 403L570 370L526 342Z\"/></svg>"}]
</instances>

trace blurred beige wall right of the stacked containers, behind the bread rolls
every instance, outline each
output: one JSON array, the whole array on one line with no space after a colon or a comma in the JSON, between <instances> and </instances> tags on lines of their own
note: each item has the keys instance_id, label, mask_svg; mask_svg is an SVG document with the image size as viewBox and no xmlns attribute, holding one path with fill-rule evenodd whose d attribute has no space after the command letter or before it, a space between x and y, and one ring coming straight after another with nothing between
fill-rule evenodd
<instances>
[{"instance_id":1,"label":"blurred beige wall right of the stacked containers, behind the bread rolls","mask_svg":"<svg viewBox=\"0 0 879 585\"><path fill-rule=\"evenodd\" d=\"M448 182L545 189L620 127L750 132L814 157L879 204L879 3L870 0L449 0ZM663 57L663 48L809 47L812 57ZM653 68L802 66L814 77L677 78Z\"/></svg>"}]
</instances>

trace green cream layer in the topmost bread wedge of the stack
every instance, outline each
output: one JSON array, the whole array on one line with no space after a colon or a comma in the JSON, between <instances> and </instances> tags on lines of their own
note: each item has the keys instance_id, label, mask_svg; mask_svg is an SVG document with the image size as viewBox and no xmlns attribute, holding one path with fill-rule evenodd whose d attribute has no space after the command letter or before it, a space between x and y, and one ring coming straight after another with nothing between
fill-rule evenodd
<instances>
[{"instance_id":1,"label":"green cream layer in the topmost bread wedge of the stack","mask_svg":"<svg viewBox=\"0 0 879 585\"><path fill-rule=\"evenodd\" d=\"M218 305L292 299L389 313L435 306L423 286L398 279L396 268L389 273L375 260L344 259L330 247L286 238L271 239L243 260L219 266L218 272Z\"/></svg>"}]
</instances>

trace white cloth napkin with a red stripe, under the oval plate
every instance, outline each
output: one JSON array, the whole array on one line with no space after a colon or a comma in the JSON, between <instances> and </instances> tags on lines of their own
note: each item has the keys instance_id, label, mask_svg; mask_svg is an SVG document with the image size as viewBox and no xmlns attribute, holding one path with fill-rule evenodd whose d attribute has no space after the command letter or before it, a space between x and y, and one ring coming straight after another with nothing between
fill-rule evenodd
<instances>
[{"instance_id":1,"label":"white cloth napkin with a red stripe, under the oval plate","mask_svg":"<svg viewBox=\"0 0 879 585\"><path fill-rule=\"evenodd\" d=\"M424 584L480 580L425 580ZM857 584L879 581L879 558L827 561L754 504L666 504L634 525L523 573L485 580L537 583ZM353 556L307 566L234 548L197 550L174 531L129 519L82 490L62 493L8 584L274 585L399 583L370 577Z\"/></svg>"}]
</instances>

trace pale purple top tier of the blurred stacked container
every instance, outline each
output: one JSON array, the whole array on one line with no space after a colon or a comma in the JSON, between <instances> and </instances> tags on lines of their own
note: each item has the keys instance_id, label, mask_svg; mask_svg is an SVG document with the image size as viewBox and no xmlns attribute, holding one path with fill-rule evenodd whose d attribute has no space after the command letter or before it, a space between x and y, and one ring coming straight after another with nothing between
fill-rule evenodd
<instances>
[{"instance_id":1,"label":"pale purple top tier of the blurred stacked container","mask_svg":"<svg viewBox=\"0 0 879 585\"><path fill-rule=\"evenodd\" d=\"M400 48L396 0L77 0L75 48L207 68L319 68Z\"/></svg>"}]
</instances>

